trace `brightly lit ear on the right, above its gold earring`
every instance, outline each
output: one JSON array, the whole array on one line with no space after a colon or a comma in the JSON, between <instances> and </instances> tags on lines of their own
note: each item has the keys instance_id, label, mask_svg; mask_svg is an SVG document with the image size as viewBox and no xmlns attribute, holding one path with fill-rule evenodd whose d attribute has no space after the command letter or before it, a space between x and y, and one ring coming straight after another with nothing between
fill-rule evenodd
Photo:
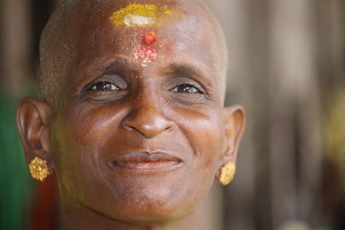
<instances>
[{"instance_id":1,"label":"brightly lit ear on the right, above its gold earring","mask_svg":"<svg viewBox=\"0 0 345 230\"><path fill-rule=\"evenodd\" d=\"M225 131L221 155L219 156L216 178L219 178L220 169L229 161L236 163L237 150L241 141L244 127L246 126L246 115L244 108L233 105L224 108Z\"/></svg>"}]
</instances>

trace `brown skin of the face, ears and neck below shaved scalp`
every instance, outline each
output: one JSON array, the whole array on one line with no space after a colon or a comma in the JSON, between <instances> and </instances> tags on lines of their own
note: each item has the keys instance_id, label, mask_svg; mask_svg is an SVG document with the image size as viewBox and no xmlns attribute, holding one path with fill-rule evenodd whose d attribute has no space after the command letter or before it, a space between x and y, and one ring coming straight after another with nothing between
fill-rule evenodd
<instances>
[{"instance_id":1,"label":"brown skin of the face, ears and neck below shaved scalp","mask_svg":"<svg viewBox=\"0 0 345 230\"><path fill-rule=\"evenodd\" d=\"M57 173L64 229L201 229L200 202L235 162L245 119L241 106L223 108L210 25L181 10L155 28L148 66L126 40L146 30L113 28L99 12L80 19L58 106L19 103L26 162L41 157Z\"/></svg>"}]
</instances>

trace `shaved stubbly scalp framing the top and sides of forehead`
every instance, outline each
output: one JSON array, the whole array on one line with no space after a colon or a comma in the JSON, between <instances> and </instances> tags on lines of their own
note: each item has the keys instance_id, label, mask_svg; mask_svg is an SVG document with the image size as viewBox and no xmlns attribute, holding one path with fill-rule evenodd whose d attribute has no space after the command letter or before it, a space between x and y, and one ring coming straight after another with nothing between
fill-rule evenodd
<instances>
[{"instance_id":1,"label":"shaved stubbly scalp framing the top and sides of forehead","mask_svg":"<svg viewBox=\"0 0 345 230\"><path fill-rule=\"evenodd\" d=\"M223 30L210 10L201 0L139 0L137 3L161 4L169 3L184 12L187 19L202 23L208 28L210 39L207 41L213 50L213 68L219 81L219 95L224 103L226 91L227 49ZM66 78L73 75L73 66L78 61L77 46L83 42L85 31L83 23L92 20L95 15L110 15L132 3L129 0L66 0L52 14L43 29L39 44L40 55L40 88L44 101L53 111L57 110L63 87L67 87ZM95 32L97 25L95 25Z\"/></svg>"}]
</instances>

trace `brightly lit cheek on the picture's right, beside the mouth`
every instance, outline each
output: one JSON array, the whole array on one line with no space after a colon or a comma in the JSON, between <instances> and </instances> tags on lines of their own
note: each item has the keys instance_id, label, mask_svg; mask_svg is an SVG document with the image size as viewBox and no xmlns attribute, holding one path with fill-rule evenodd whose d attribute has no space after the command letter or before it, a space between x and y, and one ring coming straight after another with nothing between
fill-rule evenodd
<instances>
[{"instance_id":1,"label":"brightly lit cheek on the picture's right, beside the mouth","mask_svg":"<svg viewBox=\"0 0 345 230\"><path fill-rule=\"evenodd\" d=\"M219 113L196 112L194 119L183 119L181 127L193 148L193 165L188 171L187 193L202 200L215 180L217 161L224 141L224 118Z\"/></svg>"}]
</instances>

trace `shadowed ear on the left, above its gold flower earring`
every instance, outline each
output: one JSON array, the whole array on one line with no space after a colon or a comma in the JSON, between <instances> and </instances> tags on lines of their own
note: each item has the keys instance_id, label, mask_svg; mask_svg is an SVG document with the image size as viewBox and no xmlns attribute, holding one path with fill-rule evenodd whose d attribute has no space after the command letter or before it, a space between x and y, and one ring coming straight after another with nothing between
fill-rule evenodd
<instances>
[{"instance_id":1,"label":"shadowed ear on the left, above its gold flower earring","mask_svg":"<svg viewBox=\"0 0 345 230\"><path fill-rule=\"evenodd\" d=\"M51 108L32 97L24 97L18 104L16 122L21 143L23 144L26 165L40 157L47 161L48 170L52 170L53 161L50 154L50 119Z\"/></svg>"}]
</instances>

